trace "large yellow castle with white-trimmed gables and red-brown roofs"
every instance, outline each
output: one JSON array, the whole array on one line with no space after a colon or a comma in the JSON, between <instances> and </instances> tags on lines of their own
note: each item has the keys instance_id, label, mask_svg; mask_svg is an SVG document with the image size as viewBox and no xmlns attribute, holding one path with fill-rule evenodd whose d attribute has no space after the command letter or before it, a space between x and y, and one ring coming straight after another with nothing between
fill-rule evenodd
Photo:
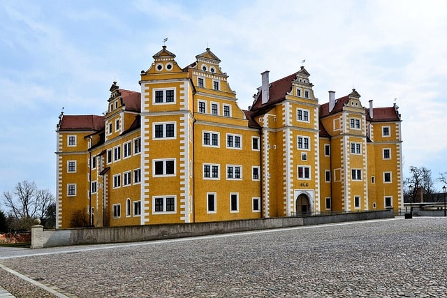
<instances>
[{"instance_id":1,"label":"large yellow castle with white-trimmed gables and red-brown roofs","mask_svg":"<svg viewBox=\"0 0 447 298\"><path fill-rule=\"evenodd\" d=\"M198 223L403 206L397 106L318 103L304 67L237 105L210 49L181 68L166 46L140 91L57 125L57 228Z\"/></svg>"}]
</instances>

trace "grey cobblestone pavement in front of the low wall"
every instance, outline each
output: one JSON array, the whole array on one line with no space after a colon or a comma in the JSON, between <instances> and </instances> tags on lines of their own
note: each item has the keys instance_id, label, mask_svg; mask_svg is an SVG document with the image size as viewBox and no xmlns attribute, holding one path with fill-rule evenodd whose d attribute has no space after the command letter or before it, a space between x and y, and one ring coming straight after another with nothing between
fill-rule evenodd
<instances>
[{"instance_id":1,"label":"grey cobblestone pavement in front of the low wall","mask_svg":"<svg viewBox=\"0 0 447 298\"><path fill-rule=\"evenodd\" d=\"M447 218L399 218L25 257L0 250L0 264L66 297L447 297L446 248ZM0 286L54 297L4 269Z\"/></svg>"}]
</instances>

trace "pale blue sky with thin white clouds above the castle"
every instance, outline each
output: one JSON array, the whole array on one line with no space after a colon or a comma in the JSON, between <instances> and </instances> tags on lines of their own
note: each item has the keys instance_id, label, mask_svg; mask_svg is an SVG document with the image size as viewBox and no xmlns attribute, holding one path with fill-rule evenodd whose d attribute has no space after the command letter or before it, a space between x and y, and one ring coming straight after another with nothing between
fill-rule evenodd
<instances>
[{"instance_id":1,"label":"pale blue sky with thin white clouds above the castle","mask_svg":"<svg viewBox=\"0 0 447 298\"><path fill-rule=\"evenodd\" d=\"M56 125L102 114L110 86L140 91L141 70L167 49L180 67L207 47L247 109L261 73L311 74L318 103L352 89L364 106L396 103L404 178L447 172L447 1L0 2L0 193L36 181L56 193ZM440 191L442 184L435 184Z\"/></svg>"}]
</instances>

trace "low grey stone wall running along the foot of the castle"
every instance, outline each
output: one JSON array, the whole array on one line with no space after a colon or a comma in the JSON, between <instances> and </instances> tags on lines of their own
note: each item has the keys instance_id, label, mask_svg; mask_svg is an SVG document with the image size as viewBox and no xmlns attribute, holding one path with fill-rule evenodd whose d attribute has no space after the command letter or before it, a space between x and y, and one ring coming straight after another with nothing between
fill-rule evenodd
<instances>
[{"instance_id":1,"label":"low grey stone wall running along the foot of the castle","mask_svg":"<svg viewBox=\"0 0 447 298\"><path fill-rule=\"evenodd\" d=\"M31 227L31 248L174 239L393 217L393 210L383 210L321 216L257 218L241 221L217 221L212 223L133 225L113 228L43 230L42 225L34 225Z\"/></svg>"}]
</instances>

